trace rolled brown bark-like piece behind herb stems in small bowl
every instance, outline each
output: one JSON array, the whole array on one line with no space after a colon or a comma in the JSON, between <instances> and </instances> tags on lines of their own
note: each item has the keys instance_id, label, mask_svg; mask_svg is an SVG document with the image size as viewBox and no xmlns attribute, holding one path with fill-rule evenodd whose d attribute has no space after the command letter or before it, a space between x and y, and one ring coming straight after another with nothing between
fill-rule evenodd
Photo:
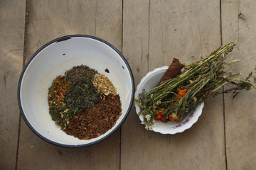
<instances>
[{"instance_id":1,"label":"rolled brown bark-like piece behind herb stems in small bowl","mask_svg":"<svg viewBox=\"0 0 256 170\"><path fill-rule=\"evenodd\" d=\"M171 65L164 73L164 76L159 81L159 84L161 84L162 81L166 81L167 79L175 78L181 72L183 67L185 67L185 65L181 64L178 59L174 58L174 60L171 62ZM157 86L159 86L159 84L157 84Z\"/></svg>"}]
</instances>

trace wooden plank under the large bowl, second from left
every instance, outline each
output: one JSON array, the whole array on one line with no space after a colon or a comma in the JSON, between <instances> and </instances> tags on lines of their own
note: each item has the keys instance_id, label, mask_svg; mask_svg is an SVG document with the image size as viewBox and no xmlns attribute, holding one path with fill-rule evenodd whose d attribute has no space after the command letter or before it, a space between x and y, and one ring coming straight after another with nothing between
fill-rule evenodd
<instances>
[{"instance_id":1,"label":"wooden plank under the large bowl, second from left","mask_svg":"<svg viewBox=\"0 0 256 170\"><path fill-rule=\"evenodd\" d=\"M122 1L40 1L28 4L26 59L63 35L95 35L122 50ZM120 132L96 145L50 145L21 122L18 169L119 169Z\"/></svg>"}]
</instances>

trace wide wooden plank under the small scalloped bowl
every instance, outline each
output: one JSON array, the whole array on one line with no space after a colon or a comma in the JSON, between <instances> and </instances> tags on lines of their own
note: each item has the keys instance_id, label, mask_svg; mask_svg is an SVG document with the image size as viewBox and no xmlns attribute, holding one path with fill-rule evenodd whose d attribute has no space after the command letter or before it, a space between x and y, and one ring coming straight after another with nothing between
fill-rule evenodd
<instances>
[{"instance_id":1,"label":"wide wooden plank under the small scalloped bowl","mask_svg":"<svg viewBox=\"0 0 256 170\"><path fill-rule=\"evenodd\" d=\"M219 47L220 4L125 1L123 33L123 52L138 83L146 69L169 65L174 57L183 63L195 62ZM207 101L198 123L181 134L141 130L144 127L138 122L133 111L122 127L122 169L131 165L134 169L225 169L221 96Z\"/></svg>"}]
</instances>

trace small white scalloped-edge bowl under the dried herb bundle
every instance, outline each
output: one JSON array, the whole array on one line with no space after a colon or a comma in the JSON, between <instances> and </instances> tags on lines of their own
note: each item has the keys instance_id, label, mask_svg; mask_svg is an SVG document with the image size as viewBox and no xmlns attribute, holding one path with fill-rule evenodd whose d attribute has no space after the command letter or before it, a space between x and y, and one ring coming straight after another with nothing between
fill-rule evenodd
<instances>
[{"instance_id":1,"label":"small white scalloped-edge bowl under the dried herb bundle","mask_svg":"<svg viewBox=\"0 0 256 170\"><path fill-rule=\"evenodd\" d=\"M166 69L168 69L167 66L156 68L152 72L149 72L146 74L145 77L142 78L140 83L137 86L137 91L135 92L135 98L138 98L138 95L142 93L142 91L149 91L150 89L153 89L156 84L160 81L161 77L164 75L164 72L166 72ZM135 102L135 108L137 114L141 111L141 108L139 107L139 104ZM199 116L202 114L204 103L200 103L196 108L194 108L192 111L188 113L186 118L184 118L179 123L162 123L160 120L157 120L153 131L154 132L160 132L161 134L171 134L174 135L178 132L183 132L184 130L187 130L191 128L191 126L196 123ZM139 114L138 114L139 115ZM139 115L139 119L143 122L144 116Z\"/></svg>"}]
</instances>

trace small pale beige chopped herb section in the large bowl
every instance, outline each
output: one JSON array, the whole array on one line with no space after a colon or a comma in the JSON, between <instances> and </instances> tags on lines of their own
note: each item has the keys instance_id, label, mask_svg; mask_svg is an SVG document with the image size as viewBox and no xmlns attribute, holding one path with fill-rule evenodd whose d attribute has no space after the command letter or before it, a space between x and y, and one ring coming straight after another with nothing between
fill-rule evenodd
<instances>
[{"instance_id":1,"label":"small pale beige chopped herb section in the large bowl","mask_svg":"<svg viewBox=\"0 0 256 170\"><path fill-rule=\"evenodd\" d=\"M117 89L114 87L110 79L108 79L104 74L95 74L92 79L92 84L102 94L117 95Z\"/></svg>"}]
</instances>

